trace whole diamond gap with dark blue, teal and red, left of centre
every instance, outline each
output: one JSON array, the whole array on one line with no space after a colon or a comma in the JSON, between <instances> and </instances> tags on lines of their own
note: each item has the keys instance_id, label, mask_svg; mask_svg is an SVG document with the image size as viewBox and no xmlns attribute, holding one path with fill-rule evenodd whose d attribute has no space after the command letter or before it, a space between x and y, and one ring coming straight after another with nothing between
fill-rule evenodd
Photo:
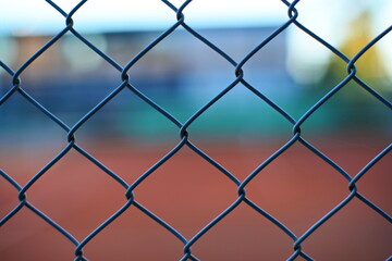
<instances>
[{"instance_id":1,"label":"whole diamond gap with dark blue, teal and red, left of centre","mask_svg":"<svg viewBox=\"0 0 392 261\"><path fill-rule=\"evenodd\" d=\"M76 130L76 142L128 184L180 141L179 127L128 89Z\"/></svg>"}]
</instances>

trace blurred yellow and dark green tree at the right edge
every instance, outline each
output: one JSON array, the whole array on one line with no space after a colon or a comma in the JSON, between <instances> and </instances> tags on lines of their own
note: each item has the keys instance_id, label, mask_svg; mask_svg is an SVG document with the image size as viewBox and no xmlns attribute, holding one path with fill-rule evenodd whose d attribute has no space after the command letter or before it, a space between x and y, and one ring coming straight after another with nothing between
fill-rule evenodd
<instances>
[{"instance_id":1,"label":"blurred yellow and dark green tree at the right edge","mask_svg":"<svg viewBox=\"0 0 392 261\"><path fill-rule=\"evenodd\" d=\"M346 38L341 47L338 47L338 50L348 59L354 58L356 53L373 39L371 25L371 13L369 11L360 12L359 15L348 23ZM347 76L346 66L346 62L333 54L327 65L324 76L317 85L328 88L336 86ZM381 95L388 94L390 83L388 83L387 70L377 44L363 53L355 62L355 67L357 70L356 76L363 82ZM384 108L379 105L380 102L354 80L344 86L332 100L332 107L340 111L341 126L345 125L348 128L354 127L356 129L360 126L360 129L368 132L370 128L379 129L380 124L391 125L391 121L385 121L382 117L384 115Z\"/></svg>"}]
</instances>

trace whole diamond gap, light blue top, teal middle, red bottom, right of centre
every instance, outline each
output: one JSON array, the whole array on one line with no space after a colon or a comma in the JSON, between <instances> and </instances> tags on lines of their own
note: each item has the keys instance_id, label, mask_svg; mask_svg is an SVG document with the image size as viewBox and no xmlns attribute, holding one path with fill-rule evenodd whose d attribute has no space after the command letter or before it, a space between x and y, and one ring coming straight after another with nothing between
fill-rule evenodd
<instances>
[{"instance_id":1,"label":"whole diamond gap, light blue top, teal middle, red bottom, right of centre","mask_svg":"<svg viewBox=\"0 0 392 261\"><path fill-rule=\"evenodd\" d=\"M291 129L285 117L238 84L187 132L192 142L242 181L291 138Z\"/></svg>"}]
</instances>

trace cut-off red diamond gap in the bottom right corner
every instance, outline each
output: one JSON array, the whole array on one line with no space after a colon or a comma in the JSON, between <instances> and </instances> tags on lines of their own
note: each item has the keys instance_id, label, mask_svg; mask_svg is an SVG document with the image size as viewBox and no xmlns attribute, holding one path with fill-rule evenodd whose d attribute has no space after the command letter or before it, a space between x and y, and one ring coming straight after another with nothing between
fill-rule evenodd
<instances>
[{"instance_id":1,"label":"cut-off red diamond gap in the bottom right corner","mask_svg":"<svg viewBox=\"0 0 392 261\"><path fill-rule=\"evenodd\" d=\"M391 223L354 198L304 243L316 260L387 260Z\"/></svg>"}]
</instances>

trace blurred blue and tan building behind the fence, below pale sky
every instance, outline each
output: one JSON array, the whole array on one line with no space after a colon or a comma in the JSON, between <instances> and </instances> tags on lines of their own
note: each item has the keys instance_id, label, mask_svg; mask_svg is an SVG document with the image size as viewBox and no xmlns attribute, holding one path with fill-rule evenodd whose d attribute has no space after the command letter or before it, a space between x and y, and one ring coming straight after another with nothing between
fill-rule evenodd
<instances>
[{"instance_id":1,"label":"blurred blue and tan building behind the fence, below pale sky","mask_svg":"<svg viewBox=\"0 0 392 261\"><path fill-rule=\"evenodd\" d=\"M273 30L274 27L220 28L201 29L199 34L238 63ZM125 32L85 37L123 67L160 34L152 30ZM9 65L17 69L50 38L15 37L16 55ZM246 80L264 94L275 92L289 97L293 92L290 91L293 82L285 69L285 59L286 36L283 32L245 63ZM186 115L175 115L186 120L235 79L235 66L186 30L177 29L138 60L128 74L134 87L163 108L169 105L183 113L182 107L194 103L189 109L192 111L184 112ZM28 94L70 125L121 84L121 73L71 34L44 52L22 73L21 78L22 87ZM12 80L4 73L0 74L0 83L1 94L11 88ZM243 86L236 88L245 89ZM247 100L241 91L232 98L233 102L241 100ZM230 108L230 101L226 102ZM119 120L113 116L119 110L134 115L143 111L133 108L133 100L119 98L100 112L103 126L124 121L123 117ZM21 104L15 103L10 111L17 114L23 110ZM12 121L17 117L8 119Z\"/></svg>"}]
</instances>

